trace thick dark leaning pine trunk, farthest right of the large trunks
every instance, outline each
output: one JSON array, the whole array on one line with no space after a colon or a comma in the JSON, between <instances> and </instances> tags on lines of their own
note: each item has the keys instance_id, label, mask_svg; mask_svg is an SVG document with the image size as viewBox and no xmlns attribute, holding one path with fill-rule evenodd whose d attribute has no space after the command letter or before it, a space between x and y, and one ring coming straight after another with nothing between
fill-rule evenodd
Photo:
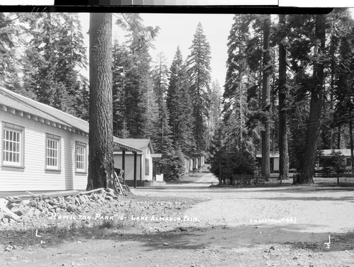
<instances>
[{"instance_id":1,"label":"thick dark leaning pine trunk, farthest right of the large trunks","mask_svg":"<svg viewBox=\"0 0 354 267\"><path fill-rule=\"evenodd\" d=\"M326 25L324 15L316 15L316 38L320 41L320 47L316 47L318 55L324 53L326 41ZM324 84L324 64L323 59L316 59L314 62L314 86L311 90L311 103L309 120L307 122L307 139L304 161L297 183L314 183L314 168L316 163L317 144L319 142L321 106L323 98Z\"/></svg>"}]
</instances>

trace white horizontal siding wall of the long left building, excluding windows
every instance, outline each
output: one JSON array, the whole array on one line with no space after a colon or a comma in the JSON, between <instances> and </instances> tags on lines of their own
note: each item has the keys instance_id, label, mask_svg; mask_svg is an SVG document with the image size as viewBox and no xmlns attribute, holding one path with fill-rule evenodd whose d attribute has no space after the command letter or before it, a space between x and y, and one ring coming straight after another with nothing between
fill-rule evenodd
<instances>
[{"instance_id":1,"label":"white horizontal siding wall of the long left building, excluding windows","mask_svg":"<svg viewBox=\"0 0 354 267\"><path fill-rule=\"evenodd\" d=\"M0 191L59 191L86 189L87 174L75 174L76 141L89 144L88 137L29 120L0 110L0 164L3 122L24 127L25 169L0 167ZM46 133L61 137L61 171L45 171ZM87 148L88 149L88 148ZM87 161L87 159L86 159ZM87 163L86 163L87 164Z\"/></svg>"}]
</instances>

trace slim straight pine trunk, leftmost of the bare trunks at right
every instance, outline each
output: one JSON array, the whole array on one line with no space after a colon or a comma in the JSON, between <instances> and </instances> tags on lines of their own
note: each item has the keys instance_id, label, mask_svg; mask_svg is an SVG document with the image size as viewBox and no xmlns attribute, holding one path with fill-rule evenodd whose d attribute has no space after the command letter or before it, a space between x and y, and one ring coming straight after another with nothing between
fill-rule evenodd
<instances>
[{"instance_id":1,"label":"slim straight pine trunk, leftmost of the bare trunks at right","mask_svg":"<svg viewBox=\"0 0 354 267\"><path fill-rule=\"evenodd\" d=\"M263 23L263 81L262 105L265 112L264 130L262 131L262 176L268 180L270 175L270 74L271 57L269 49L270 15L265 15Z\"/></svg>"}]
</instances>

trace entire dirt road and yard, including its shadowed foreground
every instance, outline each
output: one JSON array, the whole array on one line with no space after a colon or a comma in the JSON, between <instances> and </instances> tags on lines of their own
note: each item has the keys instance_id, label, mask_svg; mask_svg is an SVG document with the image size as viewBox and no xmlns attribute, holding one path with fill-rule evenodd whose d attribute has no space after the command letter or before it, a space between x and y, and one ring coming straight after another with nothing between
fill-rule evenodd
<instances>
[{"instance_id":1,"label":"entire dirt road and yard, including its shadowed foreground","mask_svg":"<svg viewBox=\"0 0 354 267\"><path fill-rule=\"evenodd\" d=\"M125 227L38 239L0 252L0 266L354 266L354 188L211 183L202 173L132 189L148 205Z\"/></svg>"}]
</instances>

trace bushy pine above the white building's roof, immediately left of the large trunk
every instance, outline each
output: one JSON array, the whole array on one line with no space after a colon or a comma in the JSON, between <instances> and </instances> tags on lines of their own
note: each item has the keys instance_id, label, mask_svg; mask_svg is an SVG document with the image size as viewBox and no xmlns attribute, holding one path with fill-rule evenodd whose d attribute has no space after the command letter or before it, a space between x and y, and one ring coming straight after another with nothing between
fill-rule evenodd
<instances>
[{"instance_id":1,"label":"bushy pine above the white building's roof, immediately left of the large trunk","mask_svg":"<svg viewBox=\"0 0 354 267\"><path fill-rule=\"evenodd\" d=\"M25 62L34 69L25 79L38 101L72 115L86 114L87 102L80 100L88 95L88 82L79 73L87 66L86 47L77 13L35 13L25 19L32 32Z\"/></svg>"}]
</instances>

